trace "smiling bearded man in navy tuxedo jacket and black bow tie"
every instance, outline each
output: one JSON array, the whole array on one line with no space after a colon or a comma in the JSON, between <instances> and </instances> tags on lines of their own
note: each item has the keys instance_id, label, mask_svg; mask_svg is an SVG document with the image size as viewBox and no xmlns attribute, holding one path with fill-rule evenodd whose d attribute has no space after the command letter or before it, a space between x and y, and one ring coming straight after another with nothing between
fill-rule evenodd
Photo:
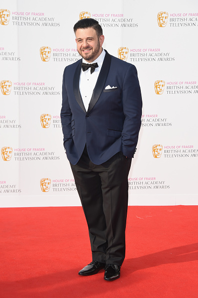
<instances>
[{"instance_id":1,"label":"smiling bearded man in navy tuxedo jacket and black bow tie","mask_svg":"<svg viewBox=\"0 0 198 298\"><path fill-rule=\"evenodd\" d=\"M96 20L78 21L74 32L82 59L65 68L61 120L92 250L92 262L79 275L105 268L104 279L114 280L125 256L128 172L141 123L141 92L136 68L103 50Z\"/></svg>"}]
</instances>

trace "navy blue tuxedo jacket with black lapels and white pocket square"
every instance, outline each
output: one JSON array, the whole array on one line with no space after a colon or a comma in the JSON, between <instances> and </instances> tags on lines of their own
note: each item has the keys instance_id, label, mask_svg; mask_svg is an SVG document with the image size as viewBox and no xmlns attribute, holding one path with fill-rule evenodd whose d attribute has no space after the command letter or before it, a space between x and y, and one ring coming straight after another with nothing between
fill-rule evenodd
<instances>
[{"instance_id":1,"label":"navy blue tuxedo jacket with black lapels and white pocket square","mask_svg":"<svg viewBox=\"0 0 198 298\"><path fill-rule=\"evenodd\" d=\"M64 147L76 165L85 144L90 160L100 165L122 152L132 158L141 125L141 91L134 65L106 51L88 111L79 90L82 59L67 66L63 75L61 121ZM116 87L105 89L106 86Z\"/></svg>"}]
</instances>

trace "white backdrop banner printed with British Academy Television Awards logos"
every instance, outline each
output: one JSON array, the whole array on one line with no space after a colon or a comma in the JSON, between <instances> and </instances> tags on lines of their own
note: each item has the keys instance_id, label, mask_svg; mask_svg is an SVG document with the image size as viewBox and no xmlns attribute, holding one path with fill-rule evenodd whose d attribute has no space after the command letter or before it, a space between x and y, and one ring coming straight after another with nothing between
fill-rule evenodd
<instances>
[{"instance_id":1,"label":"white backdrop banner printed with British Academy Television Awards logos","mask_svg":"<svg viewBox=\"0 0 198 298\"><path fill-rule=\"evenodd\" d=\"M197 0L10 0L0 7L0 207L81 205L60 110L64 68L81 59L73 26L90 17L142 90L129 205L196 205Z\"/></svg>"}]
</instances>

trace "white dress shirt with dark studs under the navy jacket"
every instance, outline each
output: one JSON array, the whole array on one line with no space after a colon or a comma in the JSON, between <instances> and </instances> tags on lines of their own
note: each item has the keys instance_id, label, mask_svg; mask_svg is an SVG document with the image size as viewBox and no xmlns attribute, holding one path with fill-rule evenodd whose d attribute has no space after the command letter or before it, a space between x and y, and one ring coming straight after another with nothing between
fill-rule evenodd
<instances>
[{"instance_id":1,"label":"white dress shirt with dark studs under the navy jacket","mask_svg":"<svg viewBox=\"0 0 198 298\"><path fill-rule=\"evenodd\" d=\"M91 68L89 68L86 71L83 71L81 69L79 88L80 88L80 93L81 93L86 111L88 110L89 102L91 100L92 93L96 85L96 82L102 67L102 63L104 61L105 54L106 54L105 51L102 50L102 53L100 54L100 56L93 62L89 63L89 64L98 63L98 67L95 69L95 71L92 74L91 74ZM84 59L82 60L82 62L87 63L87 61L85 61Z\"/></svg>"}]
</instances>

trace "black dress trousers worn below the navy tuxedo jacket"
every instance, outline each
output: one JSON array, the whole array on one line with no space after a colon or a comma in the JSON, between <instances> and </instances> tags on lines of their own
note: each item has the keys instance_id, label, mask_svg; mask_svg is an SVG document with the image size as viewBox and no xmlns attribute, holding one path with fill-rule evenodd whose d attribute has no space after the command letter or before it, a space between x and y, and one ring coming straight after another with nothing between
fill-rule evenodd
<instances>
[{"instance_id":1,"label":"black dress trousers worn below the navy tuxedo jacket","mask_svg":"<svg viewBox=\"0 0 198 298\"><path fill-rule=\"evenodd\" d=\"M131 159L121 152L94 165L86 146L77 165L71 164L94 261L121 265L124 260L130 166Z\"/></svg>"}]
</instances>

